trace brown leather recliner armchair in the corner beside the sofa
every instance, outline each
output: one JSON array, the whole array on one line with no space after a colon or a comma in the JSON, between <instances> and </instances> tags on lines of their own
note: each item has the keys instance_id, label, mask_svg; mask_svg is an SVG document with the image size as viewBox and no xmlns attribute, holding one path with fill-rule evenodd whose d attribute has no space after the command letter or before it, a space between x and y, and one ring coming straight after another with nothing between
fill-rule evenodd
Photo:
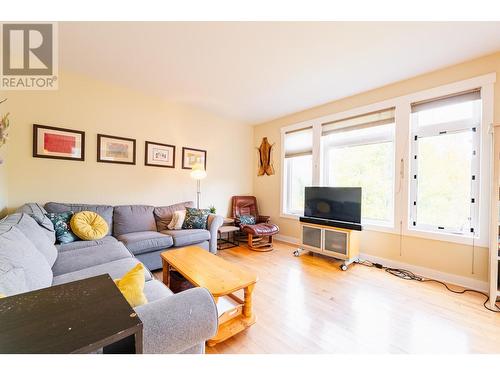
<instances>
[{"instance_id":1,"label":"brown leather recliner armchair in the corner beside the sofa","mask_svg":"<svg viewBox=\"0 0 500 375\"><path fill-rule=\"evenodd\" d=\"M248 247L251 250L270 251L273 249L273 235L279 232L279 227L270 223L269 216L259 215L257 199L254 196L234 196L231 211L235 225L248 235ZM255 224L241 224L239 217L243 215L253 216Z\"/></svg>"}]
</instances>

